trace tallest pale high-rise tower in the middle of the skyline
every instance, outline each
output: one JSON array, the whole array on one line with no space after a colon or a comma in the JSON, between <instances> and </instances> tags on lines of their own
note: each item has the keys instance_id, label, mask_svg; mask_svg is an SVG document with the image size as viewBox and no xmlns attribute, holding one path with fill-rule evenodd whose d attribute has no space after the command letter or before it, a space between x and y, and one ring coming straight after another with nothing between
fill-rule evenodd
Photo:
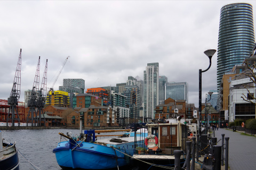
<instances>
[{"instance_id":1,"label":"tallest pale high-rise tower in the middle of the skyline","mask_svg":"<svg viewBox=\"0 0 256 170\"><path fill-rule=\"evenodd\" d=\"M159 64L148 63L144 71L144 118L155 118L155 107L159 104Z\"/></svg>"}]
</instances>

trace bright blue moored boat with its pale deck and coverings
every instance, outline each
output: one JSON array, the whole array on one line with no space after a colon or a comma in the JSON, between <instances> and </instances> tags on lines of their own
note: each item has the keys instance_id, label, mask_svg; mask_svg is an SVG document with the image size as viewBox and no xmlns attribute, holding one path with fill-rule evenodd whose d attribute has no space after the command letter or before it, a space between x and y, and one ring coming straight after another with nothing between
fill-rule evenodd
<instances>
[{"instance_id":1,"label":"bright blue moored boat with its pale deck and coverings","mask_svg":"<svg viewBox=\"0 0 256 170\"><path fill-rule=\"evenodd\" d=\"M53 149L59 166L62 169L111 169L122 167L130 163L130 157L134 154L135 146L143 143L147 137L147 131L141 133L130 131L118 135L119 138L95 140L97 136L106 136L95 135L95 133L106 131L116 132L116 130L85 130L83 134L85 138L81 138L80 141L59 133L69 139L58 143L57 148Z\"/></svg>"}]
</instances>

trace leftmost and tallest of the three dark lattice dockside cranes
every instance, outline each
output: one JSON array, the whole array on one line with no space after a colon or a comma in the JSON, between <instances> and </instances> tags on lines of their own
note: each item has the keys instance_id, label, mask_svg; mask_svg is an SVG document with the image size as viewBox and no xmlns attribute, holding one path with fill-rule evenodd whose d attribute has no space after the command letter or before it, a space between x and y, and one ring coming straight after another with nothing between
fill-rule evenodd
<instances>
[{"instance_id":1,"label":"leftmost and tallest of the three dark lattice dockside cranes","mask_svg":"<svg viewBox=\"0 0 256 170\"><path fill-rule=\"evenodd\" d=\"M10 105L10 109L6 118L6 126L8 126L9 120L12 120L12 126L14 126L15 120L19 122L18 126L20 126L20 117L16 107L20 99L20 82L21 82L21 49L20 49L20 55L19 55L18 64L16 67L15 76L14 76L12 91L11 91L10 97L7 99L7 104ZM15 115L17 115L17 118L15 118Z\"/></svg>"}]
</instances>

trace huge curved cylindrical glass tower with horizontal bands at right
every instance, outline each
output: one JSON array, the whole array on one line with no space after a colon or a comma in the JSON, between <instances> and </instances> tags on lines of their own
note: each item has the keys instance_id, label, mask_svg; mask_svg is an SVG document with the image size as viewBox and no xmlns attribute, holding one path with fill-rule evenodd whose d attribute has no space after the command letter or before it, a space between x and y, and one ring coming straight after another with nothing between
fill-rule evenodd
<instances>
[{"instance_id":1,"label":"huge curved cylindrical glass tower with horizontal bands at right","mask_svg":"<svg viewBox=\"0 0 256 170\"><path fill-rule=\"evenodd\" d=\"M217 58L217 87L222 75L250 56L254 46L252 5L235 3L225 5L220 12Z\"/></svg>"}]
</instances>

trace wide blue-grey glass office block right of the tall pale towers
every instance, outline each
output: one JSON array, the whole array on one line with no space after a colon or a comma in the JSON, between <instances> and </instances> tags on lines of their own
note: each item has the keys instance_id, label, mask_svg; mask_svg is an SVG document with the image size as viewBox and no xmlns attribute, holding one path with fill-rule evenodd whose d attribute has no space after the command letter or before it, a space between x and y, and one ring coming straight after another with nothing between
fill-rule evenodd
<instances>
[{"instance_id":1,"label":"wide blue-grey glass office block right of the tall pale towers","mask_svg":"<svg viewBox=\"0 0 256 170\"><path fill-rule=\"evenodd\" d=\"M165 84L165 98L171 98L174 100L186 100L188 103L188 83L169 82Z\"/></svg>"}]
</instances>

